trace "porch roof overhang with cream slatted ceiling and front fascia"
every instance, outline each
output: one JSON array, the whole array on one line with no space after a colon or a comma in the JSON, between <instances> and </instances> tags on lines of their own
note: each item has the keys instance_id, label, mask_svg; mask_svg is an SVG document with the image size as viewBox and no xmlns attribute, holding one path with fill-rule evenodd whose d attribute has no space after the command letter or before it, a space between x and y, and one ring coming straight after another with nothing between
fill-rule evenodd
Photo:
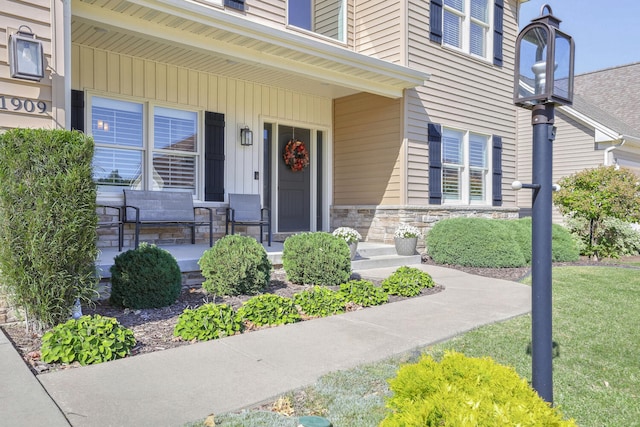
<instances>
[{"instance_id":1,"label":"porch roof overhang with cream slatted ceiling and front fascia","mask_svg":"<svg viewBox=\"0 0 640 427\"><path fill-rule=\"evenodd\" d=\"M337 98L397 98L429 75L186 0L73 0L73 43Z\"/></svg>"}]
</instances>

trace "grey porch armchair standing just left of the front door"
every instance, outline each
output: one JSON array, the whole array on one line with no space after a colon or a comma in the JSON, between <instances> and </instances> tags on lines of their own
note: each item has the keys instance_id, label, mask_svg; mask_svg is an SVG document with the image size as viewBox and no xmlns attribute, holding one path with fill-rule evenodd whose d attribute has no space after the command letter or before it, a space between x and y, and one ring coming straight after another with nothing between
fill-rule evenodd
<instances>
[{"instance_id":1,"label":"grey porch armchair standing just left of the front door","mask_svg":"<svg viewBox=\"0 0 640 427\"><path fill-rule=\"evenodd\" d=\"M235 233L236 225L260 227L260 243L266 227L268 244L271 246L271 210L261 207L259 194L229 194L225 234L229 234L229 224L231 234Z\"/></svg>"}]
</instances>

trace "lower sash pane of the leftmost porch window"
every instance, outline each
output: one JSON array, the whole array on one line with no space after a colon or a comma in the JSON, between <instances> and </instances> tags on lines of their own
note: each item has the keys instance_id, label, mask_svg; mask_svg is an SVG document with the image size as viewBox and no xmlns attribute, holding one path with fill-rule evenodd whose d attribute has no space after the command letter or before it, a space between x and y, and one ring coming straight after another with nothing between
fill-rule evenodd
<instances>
[{"instance_id":1,"label":"lower sash pane of the leftmost porch window","mask_svg":"<svg viewBox=\"0 0 640 427\"><path fill-rule=\"evenodd\" d=\"M142 152L96 147L93 180L101 191L122 191L141 184Z\"/></svg>"}]
</instances>

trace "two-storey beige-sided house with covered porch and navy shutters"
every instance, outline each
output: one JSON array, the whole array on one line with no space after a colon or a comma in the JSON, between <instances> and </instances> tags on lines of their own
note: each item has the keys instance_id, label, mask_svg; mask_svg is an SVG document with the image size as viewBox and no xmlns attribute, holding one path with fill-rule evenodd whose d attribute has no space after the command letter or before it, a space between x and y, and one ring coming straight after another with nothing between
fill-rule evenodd
<instances>
[{"instance_id":1,"label":"two-storey beige-sided house with covered porch and navy shutters","mask_svg":"<svg viewBox=\"0 0 640 427\"><path fill-rule=\"evenodd\" d=\"M0 129L84 131L99 203L121 204L123 188L189 191L214 208L215 237L232 193L261 195L276 238L352 226L390 242L401 222L515 217L518 5L0 0ZM21 26L43 44L40 81L9 72ZM292 140L309 154L302 170L283 161ZM117 245L114 230L100 245Z\"/></svg>"}]
</instances>

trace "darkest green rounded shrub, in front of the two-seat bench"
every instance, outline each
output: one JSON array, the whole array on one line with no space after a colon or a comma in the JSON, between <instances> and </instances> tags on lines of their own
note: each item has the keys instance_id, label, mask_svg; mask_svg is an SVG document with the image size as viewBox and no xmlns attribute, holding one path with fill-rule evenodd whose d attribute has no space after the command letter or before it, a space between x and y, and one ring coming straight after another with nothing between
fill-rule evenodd
<instances>
[{"instance_id":1,"label":"darkest green rounded shrub, in front of the two-seat bench","mask_svg":"<svg viewBox=\"0 0 640 427\"><path fill-rule=\"evenodd\" d=\"M115 257L110 271L109 301L118 307L166 307L182 289L182 274L173 255L146 242Z\"/></svg>"}]
</instances>

